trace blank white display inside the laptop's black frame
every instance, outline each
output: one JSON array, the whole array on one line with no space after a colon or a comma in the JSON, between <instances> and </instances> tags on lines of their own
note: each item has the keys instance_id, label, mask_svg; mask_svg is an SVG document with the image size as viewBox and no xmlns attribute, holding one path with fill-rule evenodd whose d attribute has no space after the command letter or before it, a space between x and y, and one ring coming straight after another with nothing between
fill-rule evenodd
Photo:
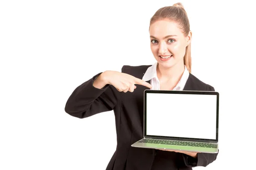
<instances>
[{"instance_id":1,"label":"blank white display inside the laptop's black frame","mask_svg":"<svg viewBox=\"0 0 256 170\"><path fill-rule=\"evenodd\" d=\"M146 95L147 135L216 139L216 95Z\"/></svg>"}]
</instances>

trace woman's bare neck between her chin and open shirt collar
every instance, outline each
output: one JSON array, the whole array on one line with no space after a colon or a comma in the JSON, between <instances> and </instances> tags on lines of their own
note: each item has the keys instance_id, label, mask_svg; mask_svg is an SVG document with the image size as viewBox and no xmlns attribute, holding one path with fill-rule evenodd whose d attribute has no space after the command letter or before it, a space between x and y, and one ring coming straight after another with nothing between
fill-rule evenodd
<instances>
[{"instance_id":1,"label":"woman's bare neck between her chin and open shirt collar","mask_svg":"<svg viewBox=\"0 0 256 170\"><path fill-rule=\"evenodd\" d=\"M177 63L171 68L164 68L163 66L157 64L157 77L163 81L179 81L185 70L184 64Z\"/></svg>"}]
</instances>

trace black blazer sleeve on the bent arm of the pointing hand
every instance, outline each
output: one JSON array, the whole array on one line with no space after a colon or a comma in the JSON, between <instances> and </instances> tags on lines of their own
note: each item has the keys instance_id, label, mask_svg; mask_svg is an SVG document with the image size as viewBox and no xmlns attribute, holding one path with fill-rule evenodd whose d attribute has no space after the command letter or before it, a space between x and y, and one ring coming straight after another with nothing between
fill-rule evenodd
<instances>
[{"instance_id":1,"label":"black blazer sleeve on the bent arm of the pointing hand","mask_svg":"<svg viewBox=\"0 0 256 170\"><path fill-rule=\"evenodd\" d=\"M122 67L122 72L125 66ZM97 113L112 111L119 101L120 92L113 85L95 88L93 81L102 73L79 85L65 105L65 112L77 118L86 118Z\"/></svg>"}]
</instances>

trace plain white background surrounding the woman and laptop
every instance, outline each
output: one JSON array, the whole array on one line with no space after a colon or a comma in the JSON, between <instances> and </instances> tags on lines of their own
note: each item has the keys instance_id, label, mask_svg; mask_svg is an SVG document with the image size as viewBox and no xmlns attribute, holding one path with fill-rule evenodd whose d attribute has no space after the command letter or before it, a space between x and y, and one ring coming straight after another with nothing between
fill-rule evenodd
<instances>
[{"instance_id":1,"label":"plain white background surrounding the woman and laptop","mask_svg":"<svg viewBox=\"0 0 256 170\"><path fill-rule=\"evenodd\" d=\"M150 17L177 2L193 31L192 74L220 93L220 152L195 170L253 169L256 11L249 0L1 0L0 169L104 170L116 148L113 112L78 119L65 103L101 71L153 64Z\"/></svg>"}]
</instances>

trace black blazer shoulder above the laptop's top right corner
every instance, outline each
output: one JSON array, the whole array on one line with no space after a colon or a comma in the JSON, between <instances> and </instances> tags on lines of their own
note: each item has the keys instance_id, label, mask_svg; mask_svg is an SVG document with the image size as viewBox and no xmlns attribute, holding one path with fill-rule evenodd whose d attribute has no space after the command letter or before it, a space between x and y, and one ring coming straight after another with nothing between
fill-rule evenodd
<instances>
[{"instance_id":1,"label":"black blazer shoulder above the laptop's top right corner","mask_svg":"<svg viewBox=\"0 0 256 170\"><path fill-rule=\"evenodd\" d=\"M191 73L189 73L189 78L187 80L187 83L191 88L198 91L215 91L215 88L212 85L209 85L201 81Z\"/></svg>"}]
</instances>

